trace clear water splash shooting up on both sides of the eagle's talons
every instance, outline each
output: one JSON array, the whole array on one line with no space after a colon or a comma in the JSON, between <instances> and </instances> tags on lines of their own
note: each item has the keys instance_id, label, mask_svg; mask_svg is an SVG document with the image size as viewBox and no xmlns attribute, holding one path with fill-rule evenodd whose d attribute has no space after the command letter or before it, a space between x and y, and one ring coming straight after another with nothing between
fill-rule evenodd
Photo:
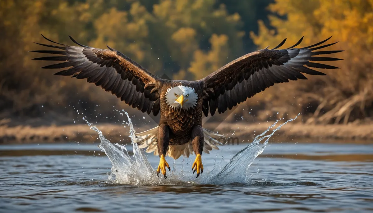
<instances>
[{"instance_id":1,"label":"clear water splash shooting up on both sides of the eagle's talons","mask_svg":"<svg viewBox=\"0 0 373 213\"><path fill-rule=\"evenodd\" d=\"M122 111L125 112L124 110ZM133 146L133 156L129 155L125 146L121 146L118 143L110 143L110 141L103 136L102 132L98 130L97 127L92 126L91 123L85 119L84 120L92 130L97 132L101 141L99 147L103 152L106 153L112 162L109 180L111 180L113 183L131 185L250 184L251 174L248 174L248 168L254 162L254 159L263 152L264 148L269 142L270 137L273 136L277 130L279 130L286 123L297 118L295 117L286 121L273 129L272 133L267 134L270 129L275 127L275 125L278 123L278 121L276 121L273 125L269 126L266 131L256 136L253 142L233 156L233 158L224 166L223 169L221 169L221 165L214 165L214 169L212 171L206 171L203 175L196 179L194 174L186 174L183 172L183 169L176 170L176 166L174 165L175 168L173 169L171 175L169 175L169 178L166 180L162 177L162 175L160 178L157 177L156 171L151 167L150 162L145 155L144 149L140 149L138 144L134 143L135 130L128 113L125 112L125 114L128 120L126 124L130 127L129 137L131 138ZM123 114L121 113L121 115ZM264 139L266 139L264 143L260 143Z\"/></svg>"}]
</instances>

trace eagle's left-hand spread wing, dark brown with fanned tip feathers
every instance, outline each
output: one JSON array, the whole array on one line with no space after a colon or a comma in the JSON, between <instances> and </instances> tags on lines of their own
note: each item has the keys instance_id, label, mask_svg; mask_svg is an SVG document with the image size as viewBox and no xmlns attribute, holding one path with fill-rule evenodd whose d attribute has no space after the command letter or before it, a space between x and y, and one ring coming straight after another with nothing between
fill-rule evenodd
<instances>
[{"instance_id":1,"label":"eagle's left-hand spread wing, dark brown with fanned tip feathers","mask_svg":"<svg viewBox=\"0 0 373 213\"><path fill-rule=\"evenodd\" d=\"M47 40L59 44L59 46L36 43L59 50L32 51L58 55L34 58L34 60L64 61L42 68L63 68L65 70L55 74L87 79L88 83L101 86L105 91L111 92L133 108L138 108L142 112L147 112L147 114L153 112L154 116L159 113L159 82L162 79L109 46L107 46L109 50L98 49L81 45L71 37L70 39L79 47L60 44L50 39Z\"/></svg>"}]
</instances>

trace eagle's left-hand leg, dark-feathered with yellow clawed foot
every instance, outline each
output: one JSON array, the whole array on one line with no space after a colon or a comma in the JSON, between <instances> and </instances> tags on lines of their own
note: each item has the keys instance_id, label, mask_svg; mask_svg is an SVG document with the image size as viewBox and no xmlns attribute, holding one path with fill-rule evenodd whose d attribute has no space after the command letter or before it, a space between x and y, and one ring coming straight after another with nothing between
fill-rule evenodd
<instances>
[{"instance_id":1,"label":"eagle's left-hand leg, dark-feathered with yellow clawed foot","mask_svg":"<svg viewBox=\"0 0 373 213\"><path fill-rule=\"evenodd\" d=\"M158 143L158 153L159 153L159 166L157 168L157 176L159 177L159 172L162 171L164 179L167 179L166 176L166 167L169 171L171 171L170 166L166 162L164 156L167 153L168 144L169 144L169 129L166 125L160 124L158 127L158 136L157 136L157 143Z\"/></svg>"}]
</instances>

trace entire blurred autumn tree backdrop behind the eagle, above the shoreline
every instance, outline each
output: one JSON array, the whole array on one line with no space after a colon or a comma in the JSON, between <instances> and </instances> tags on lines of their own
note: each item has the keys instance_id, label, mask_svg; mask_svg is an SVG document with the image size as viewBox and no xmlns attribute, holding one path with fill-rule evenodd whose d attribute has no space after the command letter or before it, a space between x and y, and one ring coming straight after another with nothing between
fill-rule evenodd
<instances>
[{"instance_id":1,"label":"entire blurred autumn tree backdrop behind the eagle, above the shoreline","mask_svg":"<svg viewBox=\"0 0 373 213\"><path fill-rule=\"evenodd\" d=\"M305 35L308 45L335 35L341 42L334 48L347 50L341 70L276 85L239 108L267 109L269 118L302 112L310 123L372 116L372 7L372 0L2 0L0 119L56 121L80 110L110 121L113 106L130 108L85 80L39 69L44 64L31 58L40 55L28 51L46 42L40 33L70 45L67 35L107 44L160 77L187 80L286 37L295 43ZM231 119L248 115L237 111Z\"/></svg>"}]
</instances>

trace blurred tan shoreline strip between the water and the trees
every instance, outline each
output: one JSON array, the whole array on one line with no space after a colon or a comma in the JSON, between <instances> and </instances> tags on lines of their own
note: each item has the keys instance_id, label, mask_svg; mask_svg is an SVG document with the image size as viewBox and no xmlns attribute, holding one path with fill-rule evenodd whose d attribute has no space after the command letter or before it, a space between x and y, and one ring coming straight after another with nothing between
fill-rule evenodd
<instances>
[{"instance_id":1,"label":"blurred tan shoreline strip between the water and the trees","mask_svg":"<svg viewBox=\"0 0 373 213\"><path fill-rule=\"evenodd\" d=\"M251 143L253 138L263 133L271 122L267 123L234 123L220 124L214 132L224 134L226 137L238 138L239 143ZM279 124L278 124L279 125ZM276 125L276 126L278 126ZM112 143L128 144L129 127L118 124L95 125L103 132L106 139ZM213 124L205 124L204 128ZM136 132L153 128L152 125L134 126ZM8 127L0 126L0 144L35 144L35 143L65 143L65 142L99 142L97 134L86 124L49 125L31 127L18 125ZM270 141L291 143L372 143L373 124L348 125L315 125L288 123L278 130Z\"/></svg>"}]
</instances>

